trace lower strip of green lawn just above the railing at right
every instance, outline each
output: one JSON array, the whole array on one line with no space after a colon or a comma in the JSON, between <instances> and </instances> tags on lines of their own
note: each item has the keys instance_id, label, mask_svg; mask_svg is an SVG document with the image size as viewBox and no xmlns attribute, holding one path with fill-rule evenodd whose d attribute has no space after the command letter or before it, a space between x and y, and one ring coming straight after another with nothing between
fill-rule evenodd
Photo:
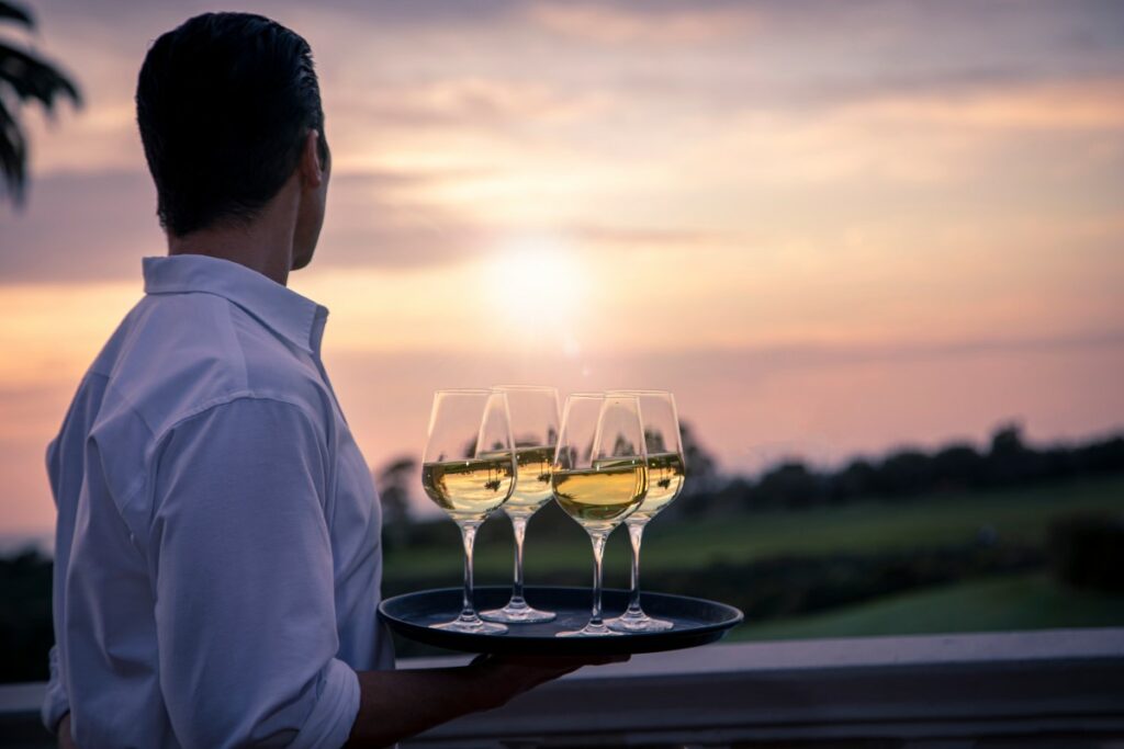
<instances>
[{"instance_id":1,"label":"lower strip of green lawn just above the railing at right","mask_svg":"<svg viewBox=\"0 0 1124 749\"><path fill-rule=\"evenodd\" d=\"M1048 575L973 581L798 619L749 622L728 641L1124 625L1124 595L1075 591Z\"/></svg>"}]
</instances>

